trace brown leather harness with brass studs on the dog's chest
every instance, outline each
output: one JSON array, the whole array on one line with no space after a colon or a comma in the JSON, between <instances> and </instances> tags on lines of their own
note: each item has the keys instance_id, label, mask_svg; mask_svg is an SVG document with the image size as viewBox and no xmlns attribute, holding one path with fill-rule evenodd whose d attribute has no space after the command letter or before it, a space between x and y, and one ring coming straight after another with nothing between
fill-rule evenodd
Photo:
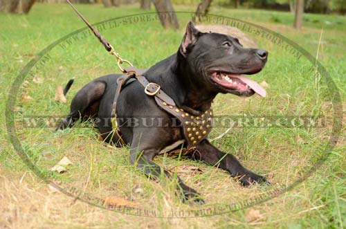
<instances>
[{"instance_id":1,"label":"brown leather harness with brass studs on the dog's chest","mask_svg":"<svg viewBox=\"0 0 346 229\"><path fill-rule=\"evenodd\" d=\"M129 79L136 79L143 86L145 93L148 96L154 97L158 107L170 113L181 122L183 136L187 143L186 149L188 151L194 149L201 140L208 136L212 129L212 109L210 108L204 112L194 111L194 114L192 114L186 111L186 109L184 110L177 107L174 100L161 89L161 86L147 80L143 75L144 72L145 70L143 69L125 68L125 74L118 78L116 95L114 96L111 112L111 118L114 120L112 122L113 127L115 127L113 128L114 131L116 131L122 143L125 144L124 140L121 138L120 129L116 124L116 104L121 89L127 84ZM199 115L196 116L196 113Z\"/></svg>"}]
</instances>

